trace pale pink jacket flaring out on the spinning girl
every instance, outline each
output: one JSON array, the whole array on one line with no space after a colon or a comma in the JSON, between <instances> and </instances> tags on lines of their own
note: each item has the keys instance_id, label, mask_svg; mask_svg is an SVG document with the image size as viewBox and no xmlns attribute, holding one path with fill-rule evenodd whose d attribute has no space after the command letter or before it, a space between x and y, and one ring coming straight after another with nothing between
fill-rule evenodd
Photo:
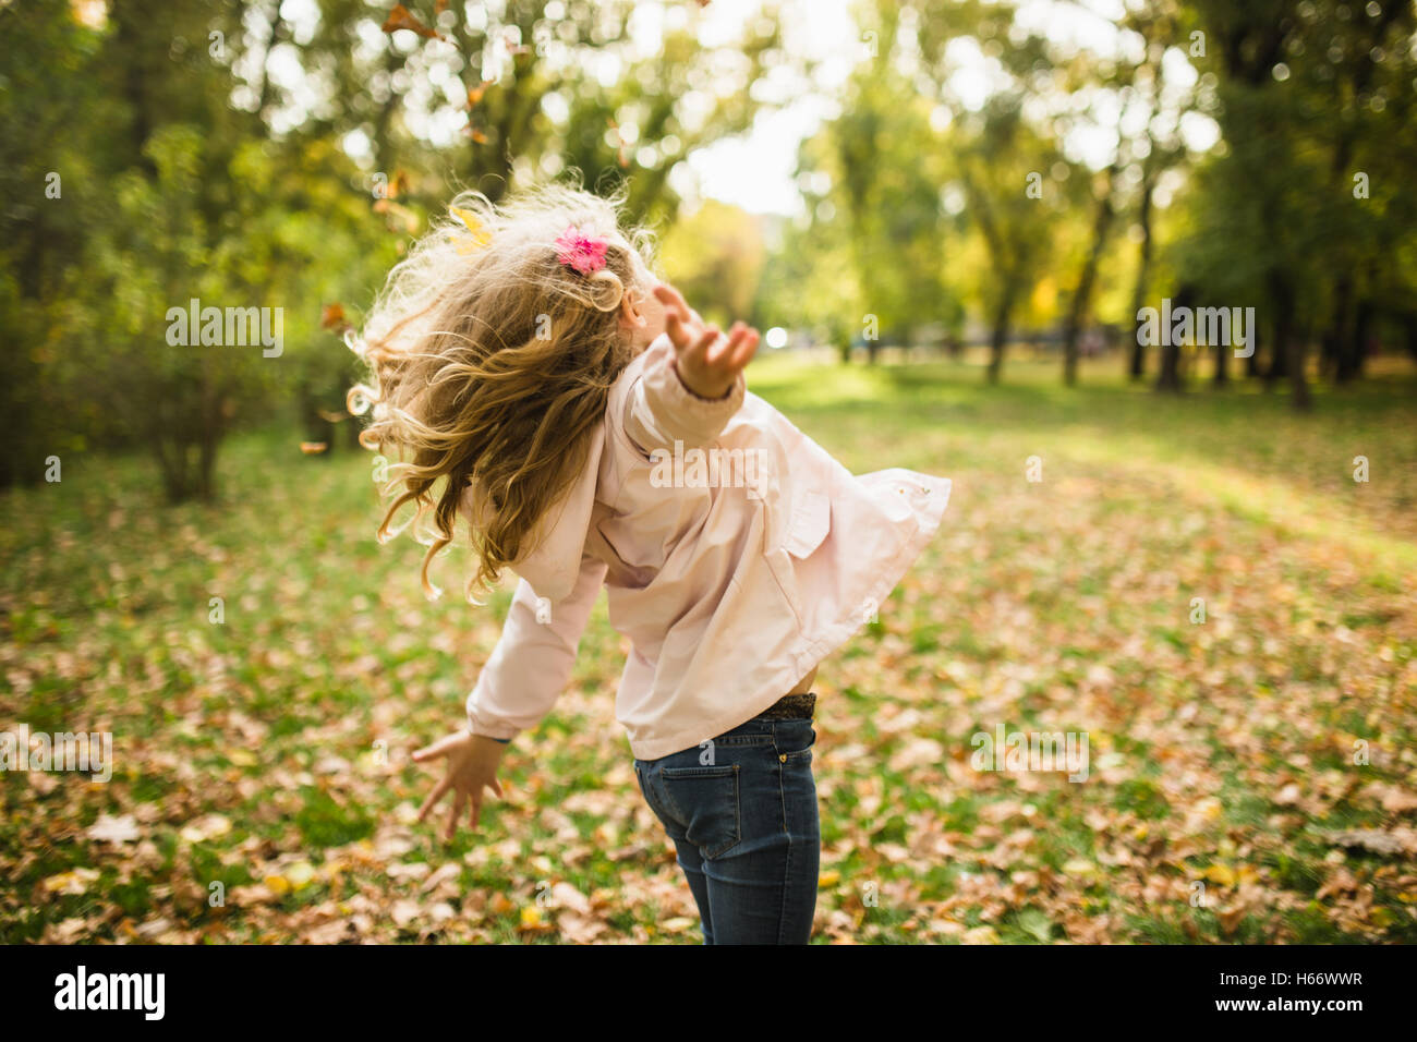
<instances>
[{"instance_id":1,"label":"pale pink jacket flaring out on the spinning girl","mask_svg":"<svg viewBox=\"0 0 1417 1042\"><path fill-rule=\"evenodd\" d=\"M657 337L611 388L585 474L543 520L468 696L510 739L555 703L601 586L629 638L615 716L656 760L752 719L874 618L939 527L949 481L853 476L747 391L690 393ZM473 509L469 493L466 509Z\"/></svg>"}]
</instances>

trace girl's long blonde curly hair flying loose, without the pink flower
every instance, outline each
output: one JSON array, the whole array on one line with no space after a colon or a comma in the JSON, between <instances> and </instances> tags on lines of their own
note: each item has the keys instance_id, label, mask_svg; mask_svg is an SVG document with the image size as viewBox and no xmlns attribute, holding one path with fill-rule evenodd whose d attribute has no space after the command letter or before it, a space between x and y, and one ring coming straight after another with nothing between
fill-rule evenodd
<instances>
[{"instance_id":1,"label":"girl's long blonde curly hair flying loose, without the pink flower","mask_svg":"<svg viewBox=\"0 0 1417 1042\"><path fill-rule=\"evenodd\" d=\"M537 523L587 464L589 435L611 386L635 354L619 323L623 295L648 296L652 242L625 231L621 198L543 186L493 206L461 193L390 272L350 347L368 366L349 391L353 414L371 413L364 448L397 449L383 488L393 502L378 540L414 525L432 559L452 543L459 505L478 568L466 597L534 550ZM606 242L605 265L563 264L568 228ZM404 458L407 456L410 458ZM414 516L390 532L405 503ZM421 530L431 516L432 532Z\"/></svg>"}]
</instances>

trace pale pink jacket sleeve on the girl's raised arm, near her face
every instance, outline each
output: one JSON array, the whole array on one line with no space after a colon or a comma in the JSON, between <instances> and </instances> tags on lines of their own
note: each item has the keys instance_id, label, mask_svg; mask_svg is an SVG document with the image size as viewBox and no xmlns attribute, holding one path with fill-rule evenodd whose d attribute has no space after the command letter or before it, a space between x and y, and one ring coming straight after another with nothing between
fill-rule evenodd
<instances>
[{"instance_id":1,"label":"pale pink jacket sleeve on the girl's raised arm, near her face","mask_svg":"<svg viewBox=\"0 0 1417 1042\"><path fill-rule=\"evenodd\" d=\"M747 393L743 373L723 398L700 398L684 387L674 369L674 346L660 335L645 350L645 367L625 398L625 434L645 455L656 448L674 451L674 442L699 448L717 438Z\"/></svg>"}]
</instances>

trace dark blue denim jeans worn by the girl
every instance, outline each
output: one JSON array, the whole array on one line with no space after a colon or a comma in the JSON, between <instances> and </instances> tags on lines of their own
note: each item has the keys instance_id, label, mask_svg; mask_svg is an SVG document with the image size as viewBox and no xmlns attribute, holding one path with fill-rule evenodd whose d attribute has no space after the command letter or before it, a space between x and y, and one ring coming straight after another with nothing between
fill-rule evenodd
<instances>
[{"instance_id":1,"label":"dark blue denim jeans worn by the girl","mask_svg":"<svg viewBox=\"0 0 1417 1042\"><path fill-rule=\"evenodd\" d=\"M808 719L752 719L711 743L635 760L679 851L704 944L806 944L822 831Z\"/></svg>"}]
</instances>

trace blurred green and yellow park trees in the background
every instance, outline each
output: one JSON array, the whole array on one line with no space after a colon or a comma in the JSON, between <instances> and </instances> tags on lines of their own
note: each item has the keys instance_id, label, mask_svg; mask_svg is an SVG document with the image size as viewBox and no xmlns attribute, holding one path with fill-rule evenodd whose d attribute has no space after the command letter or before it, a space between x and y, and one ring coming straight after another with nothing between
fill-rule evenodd
<instances>
[{"instance_id":1,"label":"blurred green and yellow park trees in the background","mask_svg":"<svg viewBox=\"0 0 1417 1042\"><path fill-rule=\"evenodd\" d=\"M1376 347L1417 357L1410 1L1051 7L1107 45L1029 0L856 3L774 217L682 174L819 82L785 43L811 4L706 35L674 0L0 3L0 483L130 445L211 496L224 434L273 417L334 451L341 333L428 214L564 176L623 189L706 315L842 359L998 381L1026 343L1073 383L1110 342L1134 380L1306 408ZM1149 352L1162 298L1254 306L1260 349ZM281 309L281 354L169 344L191 299Z\"/></svg>"}]
</instances>

